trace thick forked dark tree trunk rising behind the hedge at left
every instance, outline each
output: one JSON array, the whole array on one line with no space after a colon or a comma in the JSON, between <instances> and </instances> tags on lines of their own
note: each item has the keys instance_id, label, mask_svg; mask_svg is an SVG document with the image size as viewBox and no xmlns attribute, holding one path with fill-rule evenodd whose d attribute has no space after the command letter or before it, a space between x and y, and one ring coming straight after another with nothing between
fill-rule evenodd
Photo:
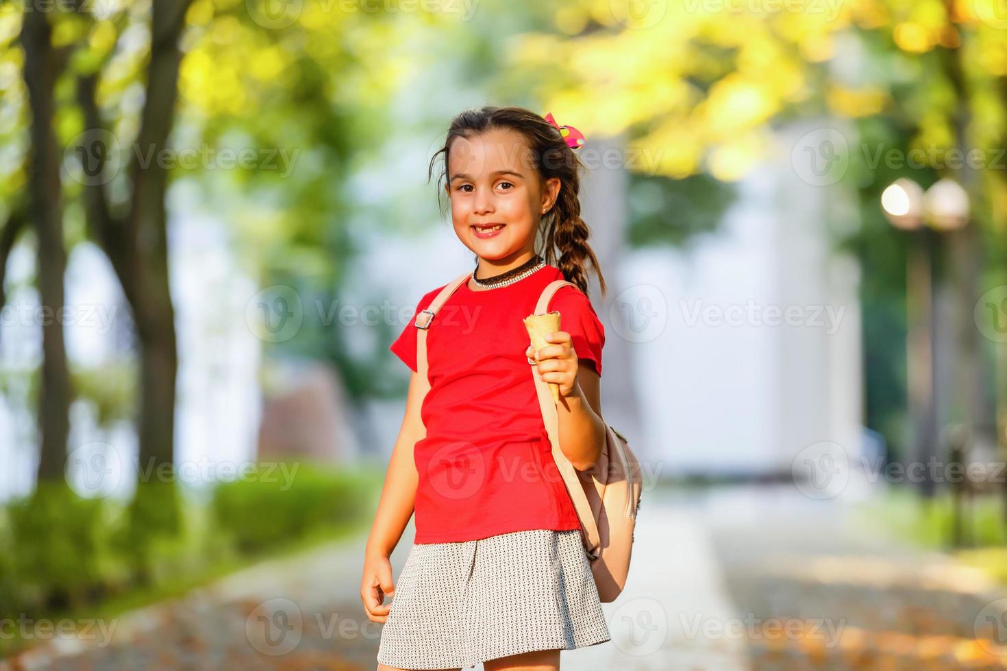
<instances>
[{"instance_id":1,"label":"thick forked dark tree trunk rising behind the hedge at left","mask_svg":"<svg viewBox=\"0 0 1007 671\"><path fill-rule=\"evenodd\" d=\"M130 526L138 552L144 537L178 529L174 487L175 383L178 368L174 306L168 279L165 195L167 169L156 160L140 165L137 156L157 156L167 146L174 122L181 50L178 39L191 0L152 3L150 61L140 132L129 167L129 212L113 214L102 184L85 189L87 218L119 277L136 325L140 358L138 433L140 476ZM78 97L88 129L103 121L95 100L98 75L78 80ZM92 141L99 141L96 135ZM93 155L104 155L99 152ZM149 475L149 479L144 476Z\"/></svg>"}]
</instances>

